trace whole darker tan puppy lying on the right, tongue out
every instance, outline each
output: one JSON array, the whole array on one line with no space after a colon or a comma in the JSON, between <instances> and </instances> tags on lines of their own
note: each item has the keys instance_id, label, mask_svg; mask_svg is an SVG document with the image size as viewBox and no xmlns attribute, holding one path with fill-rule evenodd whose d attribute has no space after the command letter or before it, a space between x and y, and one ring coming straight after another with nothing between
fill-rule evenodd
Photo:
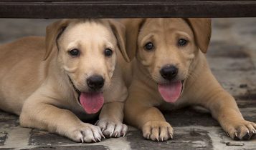
<instances>
[{"instance_id":1,"label":"whole darker tan puppy lying on the right, tongue out","mask_svg":"<svg viewBox=\"0 0 256 150\"><path fill-rule=\"evenodd\" d=\"M125 19L126 51L133 78L125 103L125 121L146 139L173 138L159 109L199 105L211 111L232 139L250 139L256 124L243 119L234 98L212 75L204 53L210 19Z\"/></svg>"}]
</instances>

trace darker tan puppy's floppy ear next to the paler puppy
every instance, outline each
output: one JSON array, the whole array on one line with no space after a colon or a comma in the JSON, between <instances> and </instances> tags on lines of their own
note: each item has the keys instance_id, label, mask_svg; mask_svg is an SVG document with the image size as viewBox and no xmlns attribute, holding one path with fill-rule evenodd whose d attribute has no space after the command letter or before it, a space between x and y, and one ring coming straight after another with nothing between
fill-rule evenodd
<instances>
[{"instance_id":1,"label":"darker tan puppy's floppy ear next to the paler puppy","mask_svg":"<svg viewBox=\"0 0 256 150\"><path fill-rule=\"evenodd\" d=\"M130 60L134 58L137 51L138 32L146 19L123 19L126 31L126 53Z\"/></svg>"}]
</instances>

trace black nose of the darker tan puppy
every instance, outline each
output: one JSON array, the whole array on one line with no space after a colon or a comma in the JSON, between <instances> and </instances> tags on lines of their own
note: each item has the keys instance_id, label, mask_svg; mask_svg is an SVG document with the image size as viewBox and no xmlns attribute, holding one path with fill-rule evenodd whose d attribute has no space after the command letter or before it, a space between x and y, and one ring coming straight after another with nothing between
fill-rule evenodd
<instances>
[{"instance_id":1,"label":"black nose of the darker tan puppy","mask_svg":"<svg viewBox=\"0 0 256 150\"><path fill-rule=\"evenodd\" d=\"M178 74L178 69L171 65L163 66L163 68L160 70L160 74L164 79L171 80L174 79L174 77Z\"/></svg>"}]
</instances>

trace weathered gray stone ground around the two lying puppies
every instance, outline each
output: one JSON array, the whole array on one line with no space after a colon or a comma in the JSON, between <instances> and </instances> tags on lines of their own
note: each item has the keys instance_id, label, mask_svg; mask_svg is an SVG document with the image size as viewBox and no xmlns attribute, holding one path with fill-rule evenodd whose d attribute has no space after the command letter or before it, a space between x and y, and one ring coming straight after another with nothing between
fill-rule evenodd
<instances>
[{"instance_id":1,"label":"weathered gray stone ground around the two lying puppies","mask_svg":"<svg viewBox=\"0 0 256 150\"><path fill-rule=\"evenodd\" d=\"M0 43L44 35L51 21L0 19ZM213 19L213 25L207 53L212 71L236 98L245 119L256 121L256 19ZM140 131L130 127L122 138L77 144L46 131L22 128L17 116L0 111L0 149L256 149L256 138L232 141L207 112L186 108L166 112L165 116L174 126L173 140L147 141Z\"/></svg>"}]
</instances>

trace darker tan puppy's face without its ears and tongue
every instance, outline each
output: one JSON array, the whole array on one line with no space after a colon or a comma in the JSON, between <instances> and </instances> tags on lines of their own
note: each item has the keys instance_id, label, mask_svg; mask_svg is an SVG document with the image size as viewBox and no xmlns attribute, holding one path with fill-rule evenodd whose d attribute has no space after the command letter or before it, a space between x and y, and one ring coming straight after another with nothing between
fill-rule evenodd
<instances>
[{"instance_id":1,"label":"darker tan puppy's face without its ears and tongue","mask_svg":"<svg viewBox=\"0 0 256 150\"><path fill-rule=\"evenodd\" d=\"M158 84L184 81L198 51L183 19L147 19L138 34L137 59Z\"/></svg>"}]
</instances>

